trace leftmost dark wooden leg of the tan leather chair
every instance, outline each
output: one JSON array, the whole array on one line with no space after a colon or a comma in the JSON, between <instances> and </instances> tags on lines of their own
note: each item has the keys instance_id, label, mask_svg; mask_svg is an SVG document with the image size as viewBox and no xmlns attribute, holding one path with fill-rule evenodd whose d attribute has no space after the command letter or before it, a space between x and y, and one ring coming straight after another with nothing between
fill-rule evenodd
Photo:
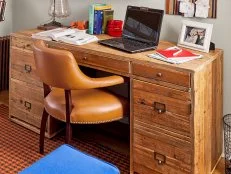
<instances>
[{"instance_id":1,"label":"leftmost dark wooden leg of the tan leather chair","mask_svg":"<svg viewBox=\"0 0 231 174\"><path fill-rule=\"evenodd\" d=\"M43 115L42 115L42 121L41 121L41 127L40 127L40 139L39 139L39 153L40 154L44 153L44 138L45 138L47 118L48 118L48 113L44 108Z\"/></svg>"}]
</instances>

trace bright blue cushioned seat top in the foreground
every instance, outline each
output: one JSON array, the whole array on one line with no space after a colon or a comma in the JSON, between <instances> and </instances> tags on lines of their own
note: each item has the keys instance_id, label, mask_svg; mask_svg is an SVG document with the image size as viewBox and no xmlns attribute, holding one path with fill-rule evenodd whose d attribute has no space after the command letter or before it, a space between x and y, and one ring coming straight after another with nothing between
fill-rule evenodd
<instances>
[{"instance_id":1,"label":"bright blue cushioned seat top in the foreground","mask_svg":"<svg viewBox=\"0 0 231 174\"><path fill-rule=\"evenodd\" d=\"M119 174L118 168L105 161L62 145L20 174Z\"/></svg>"}]
</instances>

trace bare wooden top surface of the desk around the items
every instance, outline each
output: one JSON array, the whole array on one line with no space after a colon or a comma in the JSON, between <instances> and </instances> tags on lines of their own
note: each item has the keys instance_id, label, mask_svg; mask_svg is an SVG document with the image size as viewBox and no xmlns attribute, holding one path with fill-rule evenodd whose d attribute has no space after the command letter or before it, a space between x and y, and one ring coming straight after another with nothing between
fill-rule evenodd
<instances>
[{"instance_id":1,"label":"bare wooden top surface of the desk around the items","mask_svg":"<svg viewBox=\"0 0 231 174\"><path fill-rule=\"evenodd\" d=\"M39 31L40 30L37 30L37 29L24 30L24 31L12 33L11 36L30 37L33 33L36 33ZM99 39L110 38L110 36L108 35L98 35L97 37ZM54 41L52 41L52 43L54 43ZM155 63L155 65L158 64L161 66L168 66L168 67L170 66L172 68L177 68L177 69L180 68L180 69L184 69L184 70L188 70L192 72L199 71L201 68L211 63L212 61L214 61L216 58L220 57L223 54L223 50L221 49L216 49L215 51L210 51L209 53L203 53L203 52L191 50L194 53L202 54L204 57L202 59L197 59L197 60L189 61L189 62L182 63L182 64L170 64L167 62L163 62L157 59L147 57L148 54L155 53L154 50L130 54L130 53L126 53L126 52L116 50L110 47L103 46L97 42L93 42L93 43L89 43L89 44L85 44L81 46L60 43L60 42L57 42L54 44L59 44L59 45L62 44L63 48L97 54L99 56L110 57L110 58L120 59L124 61L138 62L142 64L147 64L150 66L152 66L153 63ZM160 41L158 45L158 49L166 49L168 47L175 46L175 45L176 44L172 42Z\"/></svg>"}]
</instances>

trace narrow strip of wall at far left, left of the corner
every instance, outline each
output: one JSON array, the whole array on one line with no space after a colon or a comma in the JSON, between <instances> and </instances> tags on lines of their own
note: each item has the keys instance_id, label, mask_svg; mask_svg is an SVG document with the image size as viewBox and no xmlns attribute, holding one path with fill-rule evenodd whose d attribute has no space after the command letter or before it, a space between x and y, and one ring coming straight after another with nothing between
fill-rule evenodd
<instances>
[{"instance_id":1,"label":"narrow strip of wall at far left, left of the corner","mask_svg":"<svg viewBox=\"0 0 231 174\"><path fill-rule=\"evenodd\" d=\"M7 0L5 21L0 22L0 36L4 36L12 32L12 11L12 0Z\"/></svg>"}]
</instances>

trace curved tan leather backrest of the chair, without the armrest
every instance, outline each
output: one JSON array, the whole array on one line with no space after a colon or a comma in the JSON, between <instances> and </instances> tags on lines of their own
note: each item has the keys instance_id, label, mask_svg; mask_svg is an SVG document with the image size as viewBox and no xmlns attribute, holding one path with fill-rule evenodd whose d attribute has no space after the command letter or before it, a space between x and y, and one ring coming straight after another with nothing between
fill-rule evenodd
<instances>
[{"instance_id":1,"label":"curved tan leather backrest of the chair, without the armrest","mask_svg":"<svg viewBox=\"0 0 231 174\"><path fill-rule=\"evenodd\" d=\"M91 78L82 73L71 52L48 48L42 40L34 42L33 52L37 75L45 84L66 90L91 88Z\"/></svg>"}]
</instances>

